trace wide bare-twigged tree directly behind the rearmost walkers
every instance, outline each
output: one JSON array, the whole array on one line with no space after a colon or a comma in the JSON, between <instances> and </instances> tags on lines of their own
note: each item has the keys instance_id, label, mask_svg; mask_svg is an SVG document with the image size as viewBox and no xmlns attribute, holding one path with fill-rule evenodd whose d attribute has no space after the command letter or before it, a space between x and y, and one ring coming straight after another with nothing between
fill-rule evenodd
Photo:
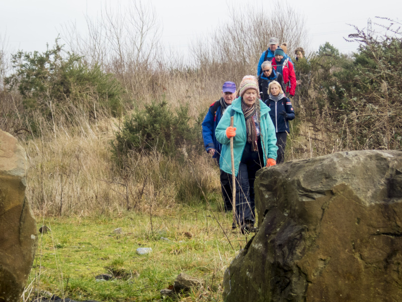
<instances>
[{"instance_id":1,"label":"wide bare-twigged tree directly behind the rearmost walkers","mask_svg":"<svg viewBox=\"0 0 402 302\"><path fill-rule=\"evenodd\" d=\"M272 36L287 43L288 53L298 46L308 46L305 18L286 3L274 2L269 12L255 7L232 6L229 10L231 21L218 27L210 39L200 39L191 49L201 68L214 64L215 72L222 78L230 73L238 76L239 81L246 73L254 74ZM208 69L213 75L214 71Z\"/></svg>"}]
</instances>

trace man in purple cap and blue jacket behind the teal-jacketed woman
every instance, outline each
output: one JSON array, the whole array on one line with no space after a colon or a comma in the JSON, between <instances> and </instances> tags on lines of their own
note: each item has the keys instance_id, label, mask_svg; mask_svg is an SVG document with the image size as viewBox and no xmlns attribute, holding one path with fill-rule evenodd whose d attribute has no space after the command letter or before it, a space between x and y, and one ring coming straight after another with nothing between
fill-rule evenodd
<instances>
[{"instance_id":1,"label":"man in purple cap and blue jacket behind the teal-jacketed woman","mask_svg":"<svg viewBox=\"0 0 402 302\"><path fill-rule=\"evenodd\" d=\"M203 139L204 146L207 153L212 156L219 165L219 159L221 157L222 144L215 137L215 129L218 126L219 121L226 108L232 104L232 101L236 98L236 84L233 82L225 82L222 87L222 97L220 100L211 104L210 109L203 121ZM221 170L221 188L222 197L225 204L225 211L232 211L232 187L229 181L228 173Z\"/></svg>"}]
</instances>

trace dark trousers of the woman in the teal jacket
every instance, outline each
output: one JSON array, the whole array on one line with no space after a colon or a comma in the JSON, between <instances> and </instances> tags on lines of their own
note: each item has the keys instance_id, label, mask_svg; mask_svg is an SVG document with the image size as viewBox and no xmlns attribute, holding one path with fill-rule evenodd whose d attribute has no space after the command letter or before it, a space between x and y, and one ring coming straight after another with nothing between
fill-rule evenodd
<instances>
[{"instance_id":1,"label":"dark trousers of the woman in the teal jacket","mask_svg":"<svg viewBox=\"0 0 402 302\"><path fill-rule=\"evenodd\" d=\"M264 166L261 141L258 139L258 151L253 151L251 143L246 143L236 177L236 221L244 225L246 221L255 221L254 181L255 174ZM229 175L232 182L232 175Z\"/></svg>"}]
</instances>

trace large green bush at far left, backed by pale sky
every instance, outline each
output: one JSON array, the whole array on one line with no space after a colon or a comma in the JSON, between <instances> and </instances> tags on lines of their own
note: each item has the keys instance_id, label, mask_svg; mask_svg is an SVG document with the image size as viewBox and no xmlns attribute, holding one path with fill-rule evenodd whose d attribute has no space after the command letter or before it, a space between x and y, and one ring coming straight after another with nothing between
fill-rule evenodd
<instances>
[{"instance_id":1,"label":"large green bush at far left, backed by pale sky","mask_svg":"<svg viewBox=\"0 0 402 302\"><path fill-rule=\"evenodd\" d=\"M90 116L96 107L119 115L123 90L118 81L100 66L89 67L78 55L63 53L62 48L56 39L53 49L43 53L19 51L12 56L15 72L5 83L22 95L25 110L39 110L47 118L57 110L68 113L71 106Z\"/></svg>"}]
</instances>

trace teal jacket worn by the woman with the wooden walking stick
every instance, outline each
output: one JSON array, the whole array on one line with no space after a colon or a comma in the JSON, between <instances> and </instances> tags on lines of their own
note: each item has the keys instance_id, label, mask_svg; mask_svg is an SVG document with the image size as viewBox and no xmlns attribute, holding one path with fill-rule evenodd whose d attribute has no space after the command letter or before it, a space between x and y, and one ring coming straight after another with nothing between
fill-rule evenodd
<instances>
[{"instance_id":1,"label":"teal jacket worn by the woman with the wooden walking stick","mask_svg":"<svg viewBox=\"0 0 402 302\"><path fill-rule=\"evenodd\" d=\"M272 120L268 114L270 111L269 107L265 105L261 100L260 102L260 129L262 134L262 148L264 151L264 166L266 166L266 160L274 159L276 160L276 151L278 147L276 146L276 135L275 127ZM230 139L226 136L226 128L230 126L230 115L232 109L234 111L233 115L233 127L236 128L236 136L233 137L233 153L235 160L235 176L239 171L240 160L242 159L244 147L246 146L246 121L244 119L244 114L241 106L241 97L233 101L223 114L216 130L215 136L217 140L222 143L221 159L219 161L219 166L221 170L226 173L232 174L232 161L230 158Z\"/></svg>"}]
</instances>

